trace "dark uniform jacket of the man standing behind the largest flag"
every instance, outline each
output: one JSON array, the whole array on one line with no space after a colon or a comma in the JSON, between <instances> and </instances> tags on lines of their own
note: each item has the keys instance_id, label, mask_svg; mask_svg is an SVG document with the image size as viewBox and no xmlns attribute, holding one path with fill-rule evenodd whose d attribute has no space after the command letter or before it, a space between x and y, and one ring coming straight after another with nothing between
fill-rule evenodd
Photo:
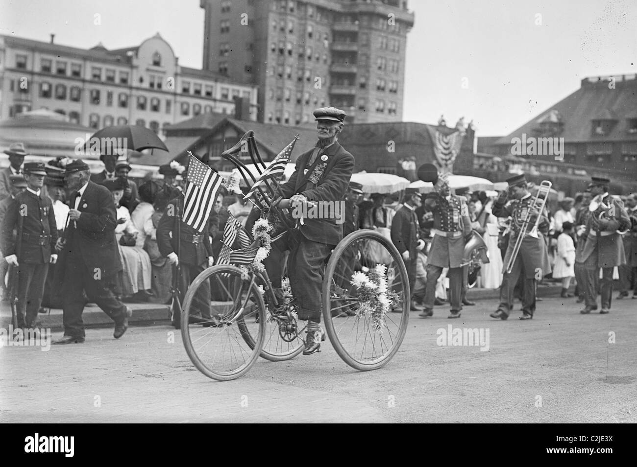
<instances>
[{"instance_id":1,"label":"dark uniform jacket of the man standing behind the largest flag","mask_svg":"<svg viewBox=\"0 0 637 467\"><path fill-rule=\"evenodd\" d=\"M179 211L177 210L177 202L179 202ZM157 225L157 247L159 253L166 257L171 253L177 253L180 264L188 264L192 266L206 265L208 256L212 256L212 246L210 244L210 219L206 221L203 232L199 233L187 223L179 220L181 242L180 248L177 248L177 223L176 213L182 213L183 195L179 199L173 199L168 202L166 211L159 224ZM197 244L192 240L186 240L189 235L203 235L203 242ZM205 264L204 264L205 263Z\"/></svg>"}]
</instances>

